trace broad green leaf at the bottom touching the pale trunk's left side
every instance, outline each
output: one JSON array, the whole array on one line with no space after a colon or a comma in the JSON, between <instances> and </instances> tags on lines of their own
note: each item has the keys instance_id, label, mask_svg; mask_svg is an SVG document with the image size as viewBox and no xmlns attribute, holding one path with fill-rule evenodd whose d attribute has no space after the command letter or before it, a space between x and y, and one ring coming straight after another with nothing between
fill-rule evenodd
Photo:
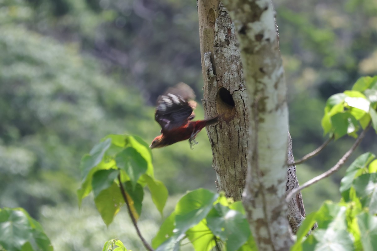
<instances>
[{"instance_id":1,"label":"broad green leaf at the bottom touching the pale trunk's left side","mask_svg":"<svg viewBox=\"0 0 377 251\"><path fill-rule=\"evenodd\" d=\"M216 204L206 219L212 233L226 242L227 251L237 250L250 236L245 215L221 204Z\"/></svg>"}]
</instances>

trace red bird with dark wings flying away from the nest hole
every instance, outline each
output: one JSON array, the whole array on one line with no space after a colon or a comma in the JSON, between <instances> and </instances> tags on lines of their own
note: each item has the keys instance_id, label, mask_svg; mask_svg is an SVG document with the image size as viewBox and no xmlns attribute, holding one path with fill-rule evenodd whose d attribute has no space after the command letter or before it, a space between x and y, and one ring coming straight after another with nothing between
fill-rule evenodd
<instances>
[{"instance_id":1,"label":"red bird with dark wings flying away from the nest hole","mask_svg":"<svg viewBox=\"0 0 377 251\"><path fill-rule=\"evenodd\" d=\"M161 126L161 135L155 137L152 148L161 148L178 141L189 140L190 148L198 142L195 137L205 126L215 124L221 116L211 119L192 121L196 108L194 91L186 84L179 83L159 96L155 112L155 120Z\"/></svg>"}]
</instances>

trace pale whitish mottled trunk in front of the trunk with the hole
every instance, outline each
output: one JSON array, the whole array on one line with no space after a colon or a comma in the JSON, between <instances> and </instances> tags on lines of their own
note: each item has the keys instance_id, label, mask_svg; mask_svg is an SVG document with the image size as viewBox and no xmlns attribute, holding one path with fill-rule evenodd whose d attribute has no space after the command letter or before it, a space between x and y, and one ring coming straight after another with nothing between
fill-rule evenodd
<instances>
[{"instance_id":1,"label":"pale whitish mottled trunk in front of the trunk with the hole","mask_svg":"<svg viewBox=\"0 0 377 251\"><path fill-rule=\"evenodd\" d=\"M270 0L224 3L238 34L252 118L243 204L259 250L289 250L288 106L273 6Z\"/></svg>"}]
</instances>

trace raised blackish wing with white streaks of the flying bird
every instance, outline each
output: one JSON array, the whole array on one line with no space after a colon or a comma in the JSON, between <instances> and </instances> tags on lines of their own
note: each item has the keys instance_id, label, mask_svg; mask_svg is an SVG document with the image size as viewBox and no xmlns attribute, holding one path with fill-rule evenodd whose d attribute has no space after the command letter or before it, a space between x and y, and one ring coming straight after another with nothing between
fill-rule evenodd
<instances>
[{"instance_id":1,"label":"raised blackish wing with white streaks of the flying bird","mask_svg":"<svg viewBox=\"0 0 377 251\"><path fill-rule=\"evenodd\" d=\"M194 91L184 83L169 88L158 97L155 119L161 125L162 132L177 128L194 118L196 102L192 99L195 99Z\"/></svg>"}]
</instances>

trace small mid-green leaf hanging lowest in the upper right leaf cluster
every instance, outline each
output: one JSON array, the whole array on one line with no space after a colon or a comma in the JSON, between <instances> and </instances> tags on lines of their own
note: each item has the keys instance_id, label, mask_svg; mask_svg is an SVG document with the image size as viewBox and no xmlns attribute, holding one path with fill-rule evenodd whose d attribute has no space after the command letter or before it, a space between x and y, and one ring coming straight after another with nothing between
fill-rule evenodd
<instances>
[{"instance_id":1,"label":"small mid-green leaf hanging lowest in the upper right leaf cluster","mask_svg":"<svg viewBox=\"0 0 377 251\"><path fill-rule=\"evenodd\" d=\"M331 117L335 139L357 131L358 123L349 112L337 113Z\"/></svg>"}]
</instances>

